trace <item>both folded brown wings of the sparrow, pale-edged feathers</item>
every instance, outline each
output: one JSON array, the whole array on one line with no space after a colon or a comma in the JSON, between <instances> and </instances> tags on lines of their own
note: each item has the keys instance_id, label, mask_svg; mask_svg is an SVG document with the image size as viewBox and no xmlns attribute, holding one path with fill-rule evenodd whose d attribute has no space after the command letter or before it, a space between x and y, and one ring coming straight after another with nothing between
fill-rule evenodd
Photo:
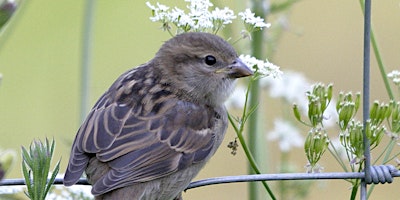
<instances>
[{"instance_id":1,"label":"both folded brown wings of the sparrow, pale-edged feathers","mask_svg":"<svg viewBox=\"0 0 400 200\"><path fill-rule=\"evenodd\" d=\"M223 113L178 100L168 91L154 89L129 100L109 96L100 98L78 131L65 185L79 179L90 154L110 167L94 183L94 194L169 175L209 157L215 126L226 126Z\"/></svg>"}]
</instances>

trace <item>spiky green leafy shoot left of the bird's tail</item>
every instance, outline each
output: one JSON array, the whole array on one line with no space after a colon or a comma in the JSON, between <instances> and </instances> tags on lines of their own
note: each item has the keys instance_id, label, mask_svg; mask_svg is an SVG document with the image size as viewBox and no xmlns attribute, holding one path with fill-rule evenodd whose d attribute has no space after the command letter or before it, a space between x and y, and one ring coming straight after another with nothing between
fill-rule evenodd
<instances>
[{"instance_id":1,"label":"spiky green leafy shoot left of the bird's tail","mask_svg":"<svg viewBox=\"0 0 400 200\"><path fill-rule=\"evenodd\" d=\"M59 160L50 178L47 178L50 172L54 146L54 139L50 145L46 138L46 143L44 144L40 140L34 140L29 147L29 151L22 147L22 171L28 189L25 194L32 200L45 199L60 170Z\"/></svg>"}]
</instances>

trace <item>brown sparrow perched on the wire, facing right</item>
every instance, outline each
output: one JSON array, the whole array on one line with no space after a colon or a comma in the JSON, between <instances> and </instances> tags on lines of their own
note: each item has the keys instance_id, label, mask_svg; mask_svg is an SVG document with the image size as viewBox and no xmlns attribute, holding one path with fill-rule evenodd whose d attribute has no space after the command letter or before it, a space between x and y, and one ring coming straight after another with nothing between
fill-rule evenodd
<instances>
[{"instance_id":1,"label":"brown sparrow perched on the wire, facing right","mask_svg":"<svg viewBox=\"0 0 400 200\"><path fill-rule=\"evenodd\" d=\"M182 199L224 138L224 102L236 80L251 75L215 34L172 37L95 103L75 136L64 185L85 172L96 199Z\"/></svg>"}]
</instances>

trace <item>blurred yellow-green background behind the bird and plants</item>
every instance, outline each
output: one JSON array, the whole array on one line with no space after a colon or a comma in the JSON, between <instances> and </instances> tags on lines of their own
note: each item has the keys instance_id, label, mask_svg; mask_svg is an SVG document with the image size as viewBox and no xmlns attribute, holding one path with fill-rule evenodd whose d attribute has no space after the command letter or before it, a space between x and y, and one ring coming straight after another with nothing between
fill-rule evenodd
<instances>
[{"instance_id":1,"label":"blurred yellow-green background behind the bird and plants","mask_svg":"<svg viewBox=\"0 0 400 200\"><path fill-rule=\"evenodd\" d=\"M184 5L183 1L161 2ZM216 3L229 4L235 11L246 6L242 1ZM387 71L399 70L400 1L373 1L372 8L373 27ZM26 0L0 38L0 147L20 152L21 145L29 146L34 138L53 137L57 142L55 159L62 158L61 172L80 125L84 11L85 1ZM149 20L151 11L145 1L96 1L94 11L91 105L121 73L147 62L170 38L159 29L160 24ZM358 0L303 0L286 16L288 27L272 61L282 70L301 71L311 80L334 83L336 92L361 91L363 16ZM371 63L371 98L387 101L375 59ZM274 105L269 107L269 99L265 101L266 119L272 119ZM197 179L246 174L243 152L231 156L230 149L224 147L234 137L232 131L227 134L226 142ZM267 140L266 145L271 155L269 172L273 173L279 148ZM306 162L302 149L291 157L300 165ZM325 171L339 170L331 157L326 157L321 163ZM7 178L20 177L18 160ZM395 199L399 182L378 185L371 198ZM309 199L348 199L349 188L343 180L318 181ZM189 190L184 197L246 199L246 191L245 183L224 184Z\"/></svg>"}]
</instances>

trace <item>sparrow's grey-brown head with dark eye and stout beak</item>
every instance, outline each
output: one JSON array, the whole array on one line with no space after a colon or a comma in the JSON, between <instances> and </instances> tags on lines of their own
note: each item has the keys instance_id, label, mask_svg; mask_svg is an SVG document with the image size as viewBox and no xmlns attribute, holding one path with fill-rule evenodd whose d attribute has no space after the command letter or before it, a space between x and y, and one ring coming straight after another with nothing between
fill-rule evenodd
<instances>
[{"instance_id":1,"label":"sparrow's grey-brown head with dark eye and stout beak","mask_svg":"<svg viewBox=\"0 0 400 200\"><path fill-rule=\"evenodd\" d=\"M228 42L209 33L177 35L164 43L153 61L183 95L211 105L228 98L237 78L253 74Z\"/></svg>"}]
</instances>

